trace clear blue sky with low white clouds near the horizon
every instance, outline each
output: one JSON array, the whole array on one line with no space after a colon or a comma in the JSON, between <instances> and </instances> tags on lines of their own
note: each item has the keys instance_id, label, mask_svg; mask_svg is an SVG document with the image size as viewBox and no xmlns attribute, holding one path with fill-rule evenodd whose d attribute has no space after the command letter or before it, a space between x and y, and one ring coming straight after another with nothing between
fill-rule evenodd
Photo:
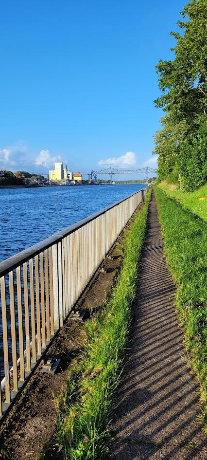
<instances>
[{"instance_id":1,"label":"clear blue sky with low white clouds near the horizon","mask_svg":"<svg viewBox=\"0 0 207 460\"><path fill-rule=\"evenodd\" d=\"M184 4L2 1L0 169L154 166L155 65Z\"/></svg>"}]
</instances>

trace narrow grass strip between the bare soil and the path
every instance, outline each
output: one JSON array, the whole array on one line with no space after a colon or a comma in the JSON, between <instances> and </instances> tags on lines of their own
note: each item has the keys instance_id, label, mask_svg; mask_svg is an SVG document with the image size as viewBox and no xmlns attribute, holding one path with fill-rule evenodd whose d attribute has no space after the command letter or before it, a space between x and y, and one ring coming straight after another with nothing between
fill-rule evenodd
<instances>
[{"instance_id":1,"label":"narrow grass strip between the bare soil and the path","mask_svg":"<svg viewBox=\"0 0 207 460\"><path fill-rule=\"evenodd\" d=\"M101 459L107 453L112 400L131 324L150 196L151 190L126 234L123 266L112 298L101 313L86 322L82 359L73 362L60 408L57 403L56 442L63 446L67 460Z\"/></svg>"}]
</instances>

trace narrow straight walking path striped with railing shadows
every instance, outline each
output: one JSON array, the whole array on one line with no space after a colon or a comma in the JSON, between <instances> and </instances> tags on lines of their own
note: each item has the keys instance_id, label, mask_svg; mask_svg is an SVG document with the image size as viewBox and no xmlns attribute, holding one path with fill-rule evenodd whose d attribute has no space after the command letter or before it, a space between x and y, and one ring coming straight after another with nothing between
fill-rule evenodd
<instances>
[{"instance_id":1,"label":"narrow straight walking path striped with railing shadows","mask_svg":"<svg viewBox=\"0 0 207 460\"><path fill-rule=\"evenodd\" d=\"M186 365L155 195L141 258L129 356L116 395L110 460L207 459L197 384Z\"/></svg>"}]
</instances>

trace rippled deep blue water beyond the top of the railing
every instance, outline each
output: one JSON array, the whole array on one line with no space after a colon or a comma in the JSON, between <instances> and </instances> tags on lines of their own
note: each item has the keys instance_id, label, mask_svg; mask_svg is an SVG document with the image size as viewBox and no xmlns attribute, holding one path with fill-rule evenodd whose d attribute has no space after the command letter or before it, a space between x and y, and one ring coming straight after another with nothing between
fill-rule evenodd
<instances>
[{"instance_id":1,"label":"rippled deep blue water beyond the top of the railing","mask_svg":"<svg viewBox=\"0 0 207 460\"><path fill-rule=\"evenodd\" d=\"M0 189L0 261L145 185Z\"/></svg>"}]
</instances>

